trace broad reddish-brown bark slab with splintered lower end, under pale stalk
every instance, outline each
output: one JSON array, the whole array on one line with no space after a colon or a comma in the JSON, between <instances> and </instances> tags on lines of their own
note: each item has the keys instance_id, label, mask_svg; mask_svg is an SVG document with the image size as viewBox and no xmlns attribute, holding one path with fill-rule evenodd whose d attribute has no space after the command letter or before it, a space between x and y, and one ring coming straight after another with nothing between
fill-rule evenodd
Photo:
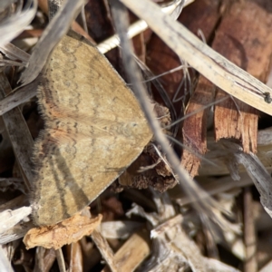
<instances>
[{"instance_id":1,"label":"broad reddish-brown bark slab with splintered lower end, under pale stalk","mask_svg":"<svg viewBox=\"0 0 272 272\"><path fill-rule=\"evenodd\" d=\"M271 14L254 2L236 2L224 16L212 47L265 82L272 53L271 32ZM219 91L216 100L223 96L228 94ZM220 102L215 106L216 141L233 137L242 142L245 152L257 152L257 118L254 108L235 98Z\"/></svg>"}]
</instances>

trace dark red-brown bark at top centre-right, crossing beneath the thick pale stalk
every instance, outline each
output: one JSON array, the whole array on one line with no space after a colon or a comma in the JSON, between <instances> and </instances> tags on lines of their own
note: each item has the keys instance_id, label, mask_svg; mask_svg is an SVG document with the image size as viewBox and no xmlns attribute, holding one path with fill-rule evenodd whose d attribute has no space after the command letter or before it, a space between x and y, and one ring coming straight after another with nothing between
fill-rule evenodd
<instances>
[{"instance_id":1,"label":"dark red-brown bark at top centre-right, crossing beneath the thick pale stalk","mask_svg":"<svg viewBox=\"0 0 272 272\"><path fill-rule=\"evenodd\" d=\"M197 34L198 30L201 29L206 39L209 40L215 24L217 24L219 20L219 4L220 1L218 0L195 1L182 10L178 21L181 24L184 24L193 34ZM162 42L157 35L153 34L151 41L147 46L148 55L146 63L154 74L170 71L170 69L180 65L179 56ZM161 83L170 96L170 99L174 97L182 79L182 70L161 77ZM182 95L184 95L184 90L180 90L179 97ZM158 97L157 99L156 95L155 99L160 102L160 98ZM177 112L180 112L180 107L180 102L175 103Z\"/></svg>"}]
</instances>

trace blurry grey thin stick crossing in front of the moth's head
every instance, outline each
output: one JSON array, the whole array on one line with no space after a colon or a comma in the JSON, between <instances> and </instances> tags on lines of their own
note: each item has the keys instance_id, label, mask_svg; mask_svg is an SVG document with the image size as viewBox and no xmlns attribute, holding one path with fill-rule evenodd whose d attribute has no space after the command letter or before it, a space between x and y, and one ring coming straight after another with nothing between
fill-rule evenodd
<instances>
[{"instance_id":1,"label":"blurry grey thin stick crossing in front of the moth's head","mask_svg":"<svg viewBox=\"0 0 272 272\"><path fill-rule=\"evenodd\" d=\"M139 72L139 69L131 53L131 42L128 40L126 35L126 28L128 26L127 12L121 5L121 3L116 0L112 1L112 15L115 27L120 34L121 48L123 49L123 64L125 70L128 73L135 95L137 96L141 104L141 108L150 123L151 130L154 133L156 140L160 143L162 151L166 154L167 159L169 160L174 172L178 175L179 180L182 180L183 189L186 191L189 197L193 199L195 207L199 209L199 211L201 210L204 213L209 214L211 218L215 219L215 215L209 209L209 205L217 205L218 208L219 205L216 204L216 201L211 199L206 192L204 192L202 189L199 189L199 186L194 180L191 179L189 173L180 166L180 160L178 159L174 151L170 148L170 143L169 141L167 141L165 135L161 131L160 123L159 121L157 121L154 113L152 112L152 107L151 103L149 102L148 95L143 87L143 84L141 83L141 73ZM205 201L203 201L204 198ZM198 201L201 204L199 204Z\"/></svg>"}]
</instances>

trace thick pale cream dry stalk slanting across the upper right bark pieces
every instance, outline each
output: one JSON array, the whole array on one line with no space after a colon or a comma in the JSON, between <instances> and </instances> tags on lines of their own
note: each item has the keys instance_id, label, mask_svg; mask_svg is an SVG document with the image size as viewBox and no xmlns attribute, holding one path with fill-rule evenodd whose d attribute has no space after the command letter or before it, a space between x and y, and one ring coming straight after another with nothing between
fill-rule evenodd
<instances>
[{"instance_id":1,"label":"thick pale cream dry stalk slanting across the upper right bark pieces","mask_svg":"<svg viewBox=\"0 0 272 272\"><path fill-rule=\"evenodd\" d=\"M210 82L257 110L272 115L272 105L269 104L272 91L267 85L202 43L182 24L161 13L160 7L150 0L121 2L145 20L180 58Z\"/></svg>"}]
</instances>

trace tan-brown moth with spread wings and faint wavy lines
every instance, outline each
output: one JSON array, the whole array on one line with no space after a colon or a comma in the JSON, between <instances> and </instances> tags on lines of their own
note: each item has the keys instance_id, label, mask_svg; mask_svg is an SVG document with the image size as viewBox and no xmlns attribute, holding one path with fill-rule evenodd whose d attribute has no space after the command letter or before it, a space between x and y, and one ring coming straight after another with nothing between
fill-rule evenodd
<instances>
[{"instance_id":1,"label":"tan-brown moth with spread wings and faint wavy lines","mask_svg":"<svg viewBox=\"0 0 272 272\"><path fill-rule=\"evenodd\" d=\"M151 141L141 107L98 50L64 36L37 92L34 223L67 219L100 195Z\"/></svg>"}]
</instances>

